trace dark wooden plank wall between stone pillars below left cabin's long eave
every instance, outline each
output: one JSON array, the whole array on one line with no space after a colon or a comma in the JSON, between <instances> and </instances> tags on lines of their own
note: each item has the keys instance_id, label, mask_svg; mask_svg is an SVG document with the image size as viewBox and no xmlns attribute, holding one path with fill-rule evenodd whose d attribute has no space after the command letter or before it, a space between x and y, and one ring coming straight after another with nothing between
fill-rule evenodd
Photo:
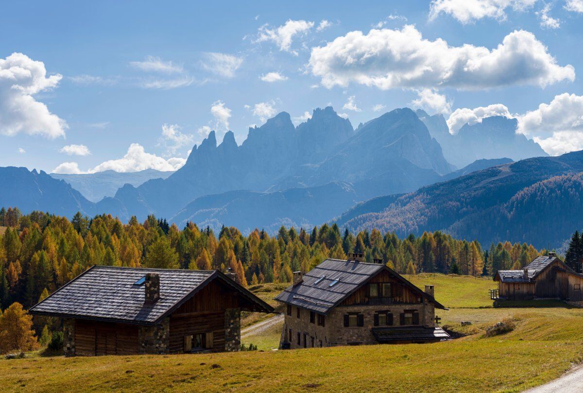
<instances>
[{"instance_id":1,"label":"dark wooden plank wall between stone pillars below left cabin's long eave","mask_svg":"<svg viewBox=\"0 0 583 393\"><path fill-rule=\"evenodd\" d=\"M136 325L75 320L75 352L79 356L137 355Z\"/></svg>"}]
</instances>

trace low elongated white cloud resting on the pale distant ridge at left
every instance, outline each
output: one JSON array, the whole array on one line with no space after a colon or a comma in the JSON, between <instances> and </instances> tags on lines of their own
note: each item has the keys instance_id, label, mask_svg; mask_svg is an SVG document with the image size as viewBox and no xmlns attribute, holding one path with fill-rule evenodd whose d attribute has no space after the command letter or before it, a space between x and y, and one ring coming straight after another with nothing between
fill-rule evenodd
<instances>
[{"instance_id":1,"label":"low elongated white cloud resting on the pale distant ridge at left","mask_svg":"<svg viewBox=\"0 0 583 393\"><path fill-rule=\"evenodd\" d=\"M146 169L156 169L159 171L175 171L186 163L186 159L180 157L172 157L170 159L163 159L154 154L146 153L143 146L139 143L132 143L128 152L121 159L108 160L96 167L87 171L79 169L79 164L76 162L64 162L59 164L54 170L54 173L96 173L106 170L114 170L116 172L137 172Z\"/></svg>"}]
</instances>

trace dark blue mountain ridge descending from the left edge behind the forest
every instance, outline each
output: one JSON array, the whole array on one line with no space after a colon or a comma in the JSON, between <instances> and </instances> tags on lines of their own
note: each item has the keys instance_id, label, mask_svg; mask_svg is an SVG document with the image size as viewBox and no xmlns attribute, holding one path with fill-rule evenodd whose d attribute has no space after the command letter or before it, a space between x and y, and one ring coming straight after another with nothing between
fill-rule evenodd
<instances>
[{"instance_id":1,"label":"dark blue mountain ridge descending from the left edge behind the forest","mask_svg":"<svg viewBox=\"0 0 583 393\"><path fill-rule=\"evenodd\" d=\"M76 212L88 216L107 213L127 220L120 201L104 198L99 203L88 201L64 180L52 178L44 171L0 167L0 206L17 207L23 213L42 210L71 218Z\"/></svg>"}]
</instances>

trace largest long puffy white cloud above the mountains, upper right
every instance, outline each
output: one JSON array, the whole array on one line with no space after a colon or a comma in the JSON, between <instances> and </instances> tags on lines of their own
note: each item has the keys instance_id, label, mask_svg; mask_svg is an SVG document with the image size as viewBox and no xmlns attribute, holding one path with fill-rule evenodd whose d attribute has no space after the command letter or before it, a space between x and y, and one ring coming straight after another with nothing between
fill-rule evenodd
<instances>
[{"instance_id":1,"label":"largest long puffy white cloud above the mountains, upper right","mask_svg":"<svg viewBox=\"0 0 583 393\"><path fill-rule=\"evenodd\" d=\"M546 86L575 79L573 66L560 66L528 31L513 31L489 50L452 47L441 38L425 40L415 26L402 30L351 31L312 48L312 74L331 88L359 83L379 89L455 87L490 89L508 85Z\"/></svg>"}]
</instances>

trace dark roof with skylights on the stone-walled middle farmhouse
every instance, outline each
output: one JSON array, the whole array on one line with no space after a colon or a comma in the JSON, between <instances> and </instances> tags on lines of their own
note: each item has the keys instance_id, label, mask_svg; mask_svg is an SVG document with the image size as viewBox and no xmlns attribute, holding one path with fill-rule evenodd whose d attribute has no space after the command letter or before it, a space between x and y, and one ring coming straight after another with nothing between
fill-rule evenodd
<instances>
[{"instance_id":1,"label":"dark roof with skylights on the stone-walled middle farmhouse","mask_svg":"<svg viewBox=\"0 0 583 393\"><path fill-rule=\"evenodd\" d=\"M404 285L435 303L436 307L445 308L433 296L424 293L384 264L369 264L332 258L325 259L321 264L305 273L301 283L287 287L275 297L275 300L307 308L319 314L327 314L382 270L391 272ZM335 281L336 283L334 283Z\"/></svg>"}]
</instances>

